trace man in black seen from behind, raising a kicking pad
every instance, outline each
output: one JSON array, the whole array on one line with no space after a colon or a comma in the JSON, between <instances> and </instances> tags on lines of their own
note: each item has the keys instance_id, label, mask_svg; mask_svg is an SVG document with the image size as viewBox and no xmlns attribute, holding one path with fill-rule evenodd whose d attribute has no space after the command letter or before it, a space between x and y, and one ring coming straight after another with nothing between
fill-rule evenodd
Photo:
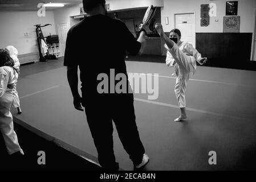
<instances>
[{"instance_id":1,"label":"man in black seen from behind, raising a kicking pad","mask_svg":"<svg viewBox=\"0 0 256 182\"><path fill-rule=\"evenodd\" d=\"M141 31L136 40L121 20L108 18L105 0L83 0L83 6L87 17L68 31L64 55L75 109L83 111L84 106L86 110L101 167L119 169L113 152L113 121L135 168L142 168L149 158L137 130L133 94L99 93L97 86L101 82L101 73L108 76L108 82L112 82L111 71L114 70L115 76L119 73L126 76L127 92L131 90L124 61L125 51L140 55L145 48L145 32ZM78 67L82 97L78 92Z\"/></svg>"}]
</instances>

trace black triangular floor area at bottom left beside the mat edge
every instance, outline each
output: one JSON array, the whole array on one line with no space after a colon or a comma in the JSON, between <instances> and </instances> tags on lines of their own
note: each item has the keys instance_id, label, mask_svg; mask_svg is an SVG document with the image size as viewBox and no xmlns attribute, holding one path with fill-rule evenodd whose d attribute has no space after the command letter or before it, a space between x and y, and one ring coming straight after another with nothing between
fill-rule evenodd
<instances>
[{"instance_id":1,"label":"black triangular floor area at bottom left beside the mat edge","mask_svg":"<svg viewBox=\"0 0 256 182\"><path fill-rule=\"evenodd\" d=\"M15 119L14 119L15 120ZM0 137L0 171L7 170L79 170L100 171L96 164L88 162L78 155L50 142L31 131L25 129L18 123L14 123L14 130L18 135L19 143L25 152L24 156L7 155L5 143ZM46 164L38 164L38 151L45 152ZM41 160L42 161L42 160Z\"/></svg>"}]
</instances>

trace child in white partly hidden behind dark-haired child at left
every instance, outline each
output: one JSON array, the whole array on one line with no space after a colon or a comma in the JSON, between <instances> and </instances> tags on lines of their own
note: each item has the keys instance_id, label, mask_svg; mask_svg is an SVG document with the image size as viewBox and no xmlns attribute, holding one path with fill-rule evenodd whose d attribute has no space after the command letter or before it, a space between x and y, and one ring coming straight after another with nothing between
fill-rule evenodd
<instances>
[{"instance_id":1,"label":"child in white partly hidden behind dark-haired child at left","mask_svg":"<svg viewBox=\"0 0 256 182\"><path fill-rule=\"evenodd\" d=\"M14 46L7 46L6 49L9 51L11 58L14 60L14 67L19 68L19 66L21 64L19 63L17 48L15 48ZM17 83L15 83L14 88L13 88L13 96L14 96L13 97L13 106L15 108L17 108L18 114L21 114L22 110L21 110L21 105L19 104L19 96L18 96L18 92L17 92Z\"/></svg>"}]
</instances>

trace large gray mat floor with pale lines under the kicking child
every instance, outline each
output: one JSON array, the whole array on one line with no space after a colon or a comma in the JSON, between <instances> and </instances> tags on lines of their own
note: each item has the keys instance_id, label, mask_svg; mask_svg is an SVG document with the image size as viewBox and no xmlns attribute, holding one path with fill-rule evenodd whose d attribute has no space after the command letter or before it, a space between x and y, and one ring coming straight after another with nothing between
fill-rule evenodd
<instances>
[{"instance_id":1,"label":"large gray mat floor with pale lines under the kicking child","mask_svg":"<svg viewBox=\"0 0 256 182\"><path fill-rule=\"evenodd\" d=\"M63 59L22 65L18 93L21 121L90 154L97 152L86 114L74 109ZM255 169L256 72L198 67L188 83L188 119L173 122L179 114L172 68L163 63L127 61L129 73L158 73L159 97L135 93L135 113L140 137L151 161L145 170ZM120 168L132 162L113 133ZM36 141L34 141L36 142ZM209 165L216 151L217 165Z\"/></svg>"}]
</instances>

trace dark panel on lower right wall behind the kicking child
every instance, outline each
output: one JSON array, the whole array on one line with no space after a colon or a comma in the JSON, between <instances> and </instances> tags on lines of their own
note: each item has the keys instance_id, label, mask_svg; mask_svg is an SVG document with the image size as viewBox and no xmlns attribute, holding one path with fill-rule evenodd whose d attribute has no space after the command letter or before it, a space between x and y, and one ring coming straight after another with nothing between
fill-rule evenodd
<instances>
[{"instance_id":1,"label":"dark panel on lower right wall behind the kicking child","mask_svg":"<svg viewBox=\"0 0 256 182\"><path fill-rule=\"evenodd\" d=\"M196 33L197 50L208 57L206 65L212 67L255 67L250 65L250 40L250 33Z\"/></svg>"}]
</instances>

